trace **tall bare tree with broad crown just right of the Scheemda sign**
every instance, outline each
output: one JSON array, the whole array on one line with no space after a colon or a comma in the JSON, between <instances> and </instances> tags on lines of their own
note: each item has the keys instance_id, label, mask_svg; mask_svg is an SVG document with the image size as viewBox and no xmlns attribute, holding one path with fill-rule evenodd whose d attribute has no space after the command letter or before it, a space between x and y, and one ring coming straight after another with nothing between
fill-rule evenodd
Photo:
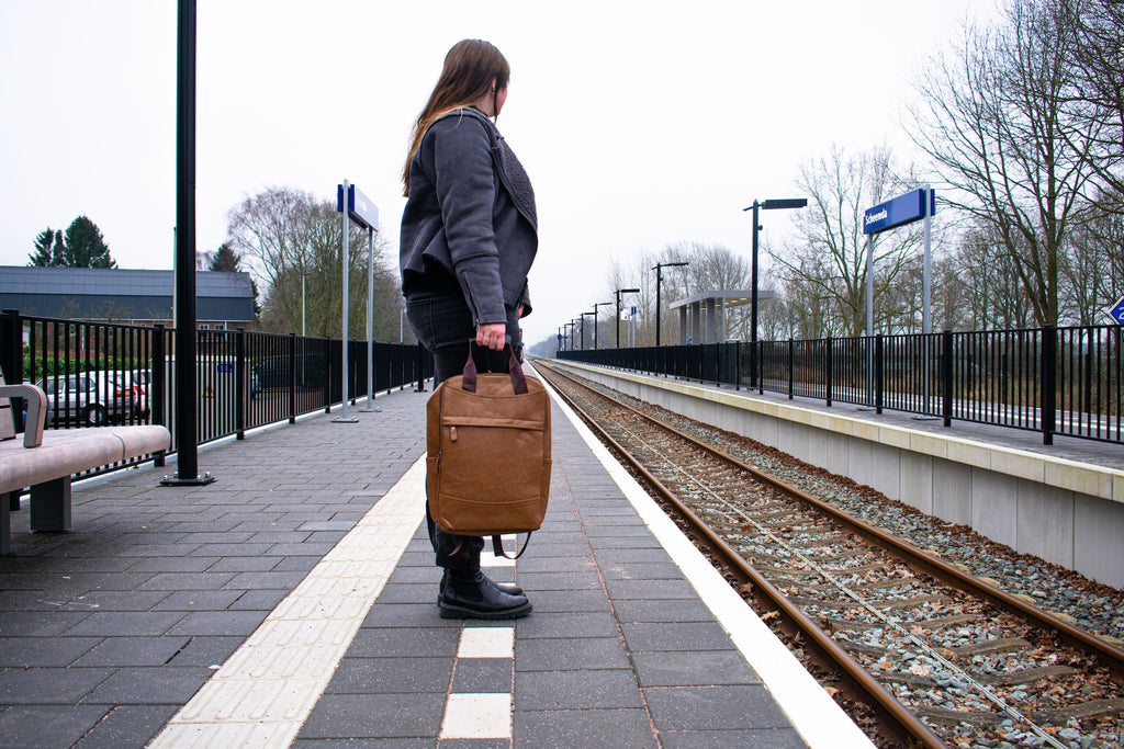
<instances>
[{"instance_id":1,"label":"tall bare tree with broad crown just right of the Scheemda sign","mask_svg":"<svg viewBox=\"0 0 1124 749\"><path fill-rule=\"evenodd\" d=\"M994 227L1034 319L1057 325L1061 255L1105 128L1077 95L1077 33L1048 1L1010 0L997 28L966 26L954 56L917 84L910 131L950 201Z\"/></svg>"}]
</instances>

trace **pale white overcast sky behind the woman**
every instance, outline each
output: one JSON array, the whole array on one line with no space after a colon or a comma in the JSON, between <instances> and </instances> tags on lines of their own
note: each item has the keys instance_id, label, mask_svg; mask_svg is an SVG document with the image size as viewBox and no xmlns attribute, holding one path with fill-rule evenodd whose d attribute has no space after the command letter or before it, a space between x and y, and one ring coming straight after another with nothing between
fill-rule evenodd
<instances>
[{"instance_id":1,"label":"pale white overcast sky behind the woman","mask_svg":"<svg viewBox=\"0 0 1124 749\"><path fill-rule=\"evenodd\" d=\"M528 342L604 301L611 259L749 252L754 199L832 144L908 161L909 81L991 0L198 0L197 241L269 186L373 200L397 264L399 175L448 47L511 64L499 128L538 201ZM85 214L118 266L171 268L175 0L0 0L0 265ZM783 232L767 214L765 236ZM608 289L611 292L611 289Z\"/></svg>"}]
</instances>

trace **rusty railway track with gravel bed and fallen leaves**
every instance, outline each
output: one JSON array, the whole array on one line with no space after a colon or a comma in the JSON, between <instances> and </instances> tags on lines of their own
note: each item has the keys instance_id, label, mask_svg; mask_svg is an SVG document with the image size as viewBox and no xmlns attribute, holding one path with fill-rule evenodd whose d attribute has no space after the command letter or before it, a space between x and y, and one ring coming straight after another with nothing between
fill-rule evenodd
<instances>
[{"instance_id":1,"label":"rusty railway track with gravel bed and fallen leaves","mask_svg":"<svg viewBox=\"0 0 1124 749\"><path fill-rule=\"evenodd\" d=\"M1124 651L607 389L534 365L827 672L822 682L873 711L883 743L1124 743Z\"/></svg>"}]
</instances>

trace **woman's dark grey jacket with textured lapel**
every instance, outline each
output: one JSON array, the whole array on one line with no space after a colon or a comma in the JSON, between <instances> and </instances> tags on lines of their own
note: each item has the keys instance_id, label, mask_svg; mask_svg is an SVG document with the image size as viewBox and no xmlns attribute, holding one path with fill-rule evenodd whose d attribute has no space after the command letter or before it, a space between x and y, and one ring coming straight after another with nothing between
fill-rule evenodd
<instances>
[{"instance_id":1,"label":"woman's dark grey jacket with textured lapel","mask_svg":"<svg viewBox=\"0 0 1124 749\"><path fill-rule=\"evenodd\" d=\"M435 121L410 162L399 267L454 274L477 325L531 312L527 273L538 248L535 193L496 126L475 109Z\"/></svg>"}]
</instances>

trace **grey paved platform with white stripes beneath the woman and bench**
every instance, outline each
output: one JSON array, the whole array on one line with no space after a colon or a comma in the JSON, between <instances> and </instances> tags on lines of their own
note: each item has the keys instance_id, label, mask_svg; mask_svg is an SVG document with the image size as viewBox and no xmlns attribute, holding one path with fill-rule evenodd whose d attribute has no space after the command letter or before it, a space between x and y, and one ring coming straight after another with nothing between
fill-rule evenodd
<instances>
[{"instance_id":1,"label":"grey paved platform with white stripes beneath the woman and bench","mask_svg":"<svg viewBox=\"0 0 1124 749\"><path fill-rule=\"evenodd\" d=\"M420 522L428 393L74 488L0 557L4 747L870 746L555 401L534 612L443 620Z\"/></svg>"}]
</instances>

